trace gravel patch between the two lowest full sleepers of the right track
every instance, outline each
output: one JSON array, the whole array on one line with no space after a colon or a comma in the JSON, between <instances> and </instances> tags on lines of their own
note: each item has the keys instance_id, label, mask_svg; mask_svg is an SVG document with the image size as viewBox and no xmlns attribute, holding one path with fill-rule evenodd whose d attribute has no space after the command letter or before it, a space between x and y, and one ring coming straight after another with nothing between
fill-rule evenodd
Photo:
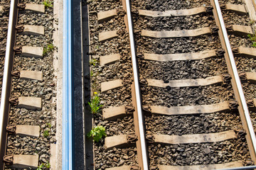
<instances>
[{"instance_id":1,"label":"gravel patch between the two lowest full sleepers of the right track","mask_svg":"<svg viewBox=\"0 0 256 170\"><path fill-rule=\"evenodd\" d=\"M223 164L250 158L245 137L206 144L149 145L150 164Z\"/></svg>"}]
</instances>

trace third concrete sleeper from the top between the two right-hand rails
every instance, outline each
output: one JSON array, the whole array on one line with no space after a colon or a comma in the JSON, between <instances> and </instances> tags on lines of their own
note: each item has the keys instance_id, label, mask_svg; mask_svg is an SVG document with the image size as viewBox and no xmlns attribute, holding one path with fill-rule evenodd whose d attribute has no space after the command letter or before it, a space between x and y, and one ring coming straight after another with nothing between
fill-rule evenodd
<instances>
[{"instance_id":1,"label":"third concrete sleeper from the top between the two right-hand rails","mask_svg":"<svg viewBox=\"0 0 256 170\"><path fill-rule=\"evenodd\" d=\"M181 54L168 54L168 55L157 55L144 53L144 60L152 60L159 62L171 62L171 61L181 61L181 60L201 60L208 57L215 57L215 50L203 51L203 52L191 52L191 53L181 53Z\"/></svg>"}]
</instances>

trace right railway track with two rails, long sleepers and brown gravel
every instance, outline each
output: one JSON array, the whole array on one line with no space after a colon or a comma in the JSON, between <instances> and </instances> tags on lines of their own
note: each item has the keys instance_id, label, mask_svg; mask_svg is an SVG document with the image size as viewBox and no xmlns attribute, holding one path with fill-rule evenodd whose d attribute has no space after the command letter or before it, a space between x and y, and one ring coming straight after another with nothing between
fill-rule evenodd
<instances>
[{"instance_id":1,"label":"right railway track with two rails, long sleepers and brown gravel","mask_svg":"<svg viewBox=\"0 0 256 170\"><path fill-rule=\"evenodd\" d=\"M95 142L95 168L249 169L248 1L129 3L90 2L92 92L103 104L94 125L107 131Z\"/></svg>"}]
</instances>

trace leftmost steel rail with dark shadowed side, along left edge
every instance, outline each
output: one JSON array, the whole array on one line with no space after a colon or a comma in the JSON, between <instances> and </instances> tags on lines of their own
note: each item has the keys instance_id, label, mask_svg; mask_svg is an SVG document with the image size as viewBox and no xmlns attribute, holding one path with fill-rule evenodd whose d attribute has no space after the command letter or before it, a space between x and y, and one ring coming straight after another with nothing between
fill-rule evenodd
<instances>
[{"instance_id":1,"label":"leftmost steel rail with dark shadowed side, along left edge","mask_svg":"<svg viewBox=\"0 0 256 170\"><path fill-rule=\"evenodd\" d=\"M9 120L9 97L11 93L11 71L14 64L14 45L16 42L16 29L18 18L18 0L11 0L8 33L6 41L6 54L4 61L4 77L1 93L1 106L0 106L0 169L4 169L3 157L6 154L6 125Z\"/></svg>"}]
</instances>

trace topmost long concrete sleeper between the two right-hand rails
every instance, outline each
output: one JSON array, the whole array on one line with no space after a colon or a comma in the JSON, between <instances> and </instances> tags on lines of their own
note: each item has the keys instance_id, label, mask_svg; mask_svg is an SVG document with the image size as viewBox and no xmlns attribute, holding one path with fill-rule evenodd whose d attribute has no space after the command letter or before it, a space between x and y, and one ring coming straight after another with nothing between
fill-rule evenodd
<instances>
[{"instance_id":1,"label":"topmost long concrete sleeper between the two right-hand rails","mask_svg":"<svg viewBox=\"0 0 256 170\"><path fill-rule=\"evenodd\" d=\"M164 16L193 16L200 13L206 13L206 7L172 10L172 11L149 11L139 9L139 15L150 17L164 17Z\"/></svg>"}]
</instances>

